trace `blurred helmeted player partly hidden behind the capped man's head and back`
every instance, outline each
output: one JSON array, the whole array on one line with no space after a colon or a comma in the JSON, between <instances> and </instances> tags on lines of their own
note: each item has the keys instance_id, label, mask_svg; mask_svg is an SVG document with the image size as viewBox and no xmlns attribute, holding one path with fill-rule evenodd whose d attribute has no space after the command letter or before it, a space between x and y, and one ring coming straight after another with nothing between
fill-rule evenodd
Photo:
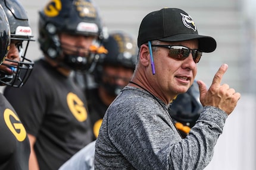
<instances>
[{"instance_id":1,"label":"blurred helmeted player partly hidden behind the capped man's head and back","mask_svg":"<svg viewBox=\"0 0 256 170\"><path fill-rule=\"evenodd\" d=\"M121 89L129 84L136 64L136 43L130 34L113 31L102 44L108 53L99 59L94 78L98 86L88 89L88 110L92 120L93 134L98 137L105 111ZM70 158L60 170L94 169L95 141L85 146Z\"/></svg>"}]
</instances>

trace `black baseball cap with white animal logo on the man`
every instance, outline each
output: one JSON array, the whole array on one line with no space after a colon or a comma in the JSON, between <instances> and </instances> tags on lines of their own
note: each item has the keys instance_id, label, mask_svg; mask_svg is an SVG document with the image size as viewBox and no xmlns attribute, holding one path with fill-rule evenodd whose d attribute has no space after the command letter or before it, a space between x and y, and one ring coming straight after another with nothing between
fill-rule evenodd
<instances>
[{"instance_id":1,"label":"black baseball cap with white animal logo on the man","mask_svg":"<svg viewBox=\"0 0 256 170\"><path fill-rule=\"evenodd\" d=\"M216 49L216 40L198 35L190 15L178 8L163 8L143 18L139 27L138 47L148 41L186 41L198 39L198 50L205 53Z\"/></svg>"}]
</instances>

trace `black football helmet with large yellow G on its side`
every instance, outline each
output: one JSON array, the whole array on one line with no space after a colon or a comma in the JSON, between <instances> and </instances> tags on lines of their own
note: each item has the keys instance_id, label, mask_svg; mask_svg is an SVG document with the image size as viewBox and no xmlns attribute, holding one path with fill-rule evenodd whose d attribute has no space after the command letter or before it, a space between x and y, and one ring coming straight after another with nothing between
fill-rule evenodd
<instances>
[{"instance_id":1,"label":"black football helmet with large yellow G on its side","mask_svg":"<svg viewBox=\"0 0 256 170\"><path fill-rule=\"evenodd\" d=\"M39 44L46 55L63 66L73 70L89 70L95 62L96 53L104 53L100 46L103 29L98 9L89 0L50 1L39 12ZM67 45L60 42L59 34L95 36L98 39L90 47L89 54L65 54ZM74 52L76 53L76 52Z\"/></svg>"}]
</instances>

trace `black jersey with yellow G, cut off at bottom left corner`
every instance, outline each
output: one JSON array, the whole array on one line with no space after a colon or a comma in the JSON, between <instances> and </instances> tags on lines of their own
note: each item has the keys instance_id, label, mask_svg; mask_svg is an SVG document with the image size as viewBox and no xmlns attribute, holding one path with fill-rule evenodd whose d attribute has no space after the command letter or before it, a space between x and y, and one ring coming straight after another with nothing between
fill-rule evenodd
<instances>
[{"instance_id":1,"label":"black jersey with yellow G, cut off at bottom left corner","mask_svg":"<svg viewBox=\"0 0 256 170\"><path fill-rule=\"evenodd\" d=\"M0 94L0 169L29 169L27 132L11 104Z\"/></svg>"}]
</instances>

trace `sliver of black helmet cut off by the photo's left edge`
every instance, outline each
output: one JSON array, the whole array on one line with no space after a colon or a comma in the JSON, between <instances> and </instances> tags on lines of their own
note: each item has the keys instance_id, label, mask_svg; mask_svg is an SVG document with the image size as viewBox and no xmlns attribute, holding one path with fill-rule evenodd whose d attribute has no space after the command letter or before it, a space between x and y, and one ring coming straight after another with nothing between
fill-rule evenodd
<instances>
[{"instance_id":1,"label":"sliver of black helmet cut off by the photo's left edge","mask_svg":"<svg viewBox=\"0 0 256 170\"><path fill-rule=\"evenodd\" d=\"M7 53L10 49L11 35L10 27L7 16L5 15L4 9L0 5L0 65L7 57ZM1 75L1 74L0 74Z\"/></svg>"}]
</instances>

